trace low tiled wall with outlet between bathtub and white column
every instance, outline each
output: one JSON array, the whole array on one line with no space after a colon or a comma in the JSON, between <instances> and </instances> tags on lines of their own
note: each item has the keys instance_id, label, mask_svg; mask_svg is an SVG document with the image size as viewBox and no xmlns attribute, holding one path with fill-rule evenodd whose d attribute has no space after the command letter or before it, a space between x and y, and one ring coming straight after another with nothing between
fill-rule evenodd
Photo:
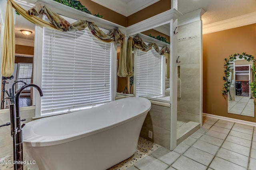
<instances>
[{"instance_id":1,"label":"low tiled wall with outlet between bathtub and white column","mask_svg":"<svg viewBox=\"0 0 256 170\"><path fill-rule=\"evenodd\" d=\"M171 115L170 107L152 104L142 125L140 136L170 149ZM153 132L153 138L148 137L148 131Z\"/></svg>"}]
</instances>

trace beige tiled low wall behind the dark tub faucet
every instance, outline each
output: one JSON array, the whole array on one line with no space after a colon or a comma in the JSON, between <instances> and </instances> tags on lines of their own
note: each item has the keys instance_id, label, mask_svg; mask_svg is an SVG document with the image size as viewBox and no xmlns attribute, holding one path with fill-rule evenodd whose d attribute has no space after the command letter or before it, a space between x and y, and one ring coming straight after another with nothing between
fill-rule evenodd
<instances>
[{"instance_id":1,"label":"beige tiled low wall behind the dark tub faucet","mask_svg":"<svg viewBox=\"0 0 256 170\"><path fill-rule=\"evenodd\" d=\"M23 123L32 121L32 117L35 117L35 109L20 111L22 119L26 118ZM10 122L10 113L0 113L0 125ZM12 137L10 135L10 126L0 127L0 158L9 156L12 154Z\"/></svg>"}]
</instances>

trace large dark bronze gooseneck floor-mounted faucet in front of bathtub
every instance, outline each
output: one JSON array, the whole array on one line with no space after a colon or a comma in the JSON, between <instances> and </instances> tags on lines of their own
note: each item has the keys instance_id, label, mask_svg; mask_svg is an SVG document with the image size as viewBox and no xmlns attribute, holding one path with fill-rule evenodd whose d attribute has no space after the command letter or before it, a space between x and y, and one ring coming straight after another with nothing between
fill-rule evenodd
<instances>
[{"instance_id":1,"label":"large dark bronze gooseneck floor-mounted faucet in front of bathtub","mask_svg":"<svg viewBox=\"0 0 256 170\"><path fill-rule=\"evenodd\" d=\"M20 98L20 94L22 93L22 91L25 88L28 87L34 87L38 90L40 96L43 96L43 92L41 90L41 88L39 86L37 86L36 84L26 84L24 86L22 86L18 92L15 95L15 112L14 113L10 113L12 115L15 115L14 117L16 118L16 135L15 135L15 150L16 150L16 157L14 157L14 161L23 161L23 141L22 141L22 127L24 125L21 125L21 120L20 120L20 104L19 104L19 98ZM11 104L14 105L14 104ZM10 107L11 108L11 107ZM11 111L11 110L10 110ZM14 130L15 131L15 130ZM17 164L16 165L17 170L23 170L23 164Z\"/></svg>"}]
</instances>

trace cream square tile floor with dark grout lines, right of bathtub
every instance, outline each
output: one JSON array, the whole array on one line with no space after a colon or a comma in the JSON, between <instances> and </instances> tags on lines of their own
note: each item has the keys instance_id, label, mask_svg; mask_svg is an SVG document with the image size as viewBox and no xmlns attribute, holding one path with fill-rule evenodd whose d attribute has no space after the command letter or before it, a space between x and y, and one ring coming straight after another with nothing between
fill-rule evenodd
<instances>
[{"instance_id":1,"label":"cream square tile floor with dark grout lines, right of bathtub","mask_svg":"<svg viewBox=\"0 0 256 170\"><path fill-rule=\"evenodd\" d=\"M203 121L173 151L160 147L127 170L256 170L256 128L211 117Z\"/></svg>"}]
</instances>

